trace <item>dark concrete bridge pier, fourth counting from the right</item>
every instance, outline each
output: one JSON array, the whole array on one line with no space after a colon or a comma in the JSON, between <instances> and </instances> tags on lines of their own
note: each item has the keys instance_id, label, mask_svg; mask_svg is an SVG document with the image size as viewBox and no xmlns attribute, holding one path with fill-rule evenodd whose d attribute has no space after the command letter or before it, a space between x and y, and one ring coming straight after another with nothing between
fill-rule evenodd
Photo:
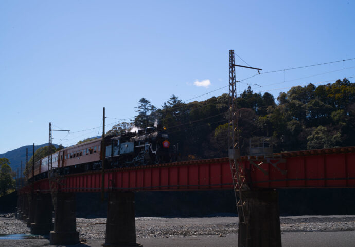
<instances>
[{"instance_id":1,"label":"dark concrete bridge pier, fourth counting from the right","mask_svg":"<svg viewBox=\"0 0 355 247\"><path fill-rule=\"evenodd\" d=\"M34 196L34 223L31 223L31 234L45 235L53 229L52 198L50 194L36 194Z\"/></svg>"}]
</instances>

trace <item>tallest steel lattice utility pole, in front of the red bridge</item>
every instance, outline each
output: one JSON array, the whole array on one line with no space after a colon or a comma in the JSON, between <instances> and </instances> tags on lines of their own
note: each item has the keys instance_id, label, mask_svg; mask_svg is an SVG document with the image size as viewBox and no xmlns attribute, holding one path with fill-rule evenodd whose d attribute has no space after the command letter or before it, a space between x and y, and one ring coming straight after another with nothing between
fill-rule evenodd
<instances>
[{"instance_id":1,"label":"tallest steel lattice utility pole, in front of the red bridge","mask_svg":"<svg viewBox=\"0 0 355 247\"><path fill-rule=\"evenodd\" d=\"M244 231L246 227L243 190L249 190L245 183L245 171L240 164L239 128L238 128L238 107L237 107L237 80L235 66L262 70L253 67L236 65L234 60L234 50L229 50L229 128L228 128L228 156L230 171L232 173L234 193L238 210L239 227Z\"/></svg>"}]
</instances>

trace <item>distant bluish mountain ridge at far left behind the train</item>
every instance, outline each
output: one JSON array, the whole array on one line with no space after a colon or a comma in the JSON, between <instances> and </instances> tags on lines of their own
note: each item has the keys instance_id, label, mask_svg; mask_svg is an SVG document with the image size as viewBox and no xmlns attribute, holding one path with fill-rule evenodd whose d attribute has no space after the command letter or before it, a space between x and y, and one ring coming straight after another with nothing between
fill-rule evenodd
<instances>
[{"instance_id":1,"label":"distant bluish mountain ridge at far left behind the train","mask_svg":"<svg viewBox=\"0 0 355 247\"><path fill-rule=\"evenodd\" d=\"M56 148L58 147L57 144L52 144ZM42 145L34 145L34 151L37 149L48 146L48 143L42 144ZM25 167L26 163L26 148L28 148L28 160L32 157L32 151L33 151L33 145L28 145L28 146L22 146L17 149L14 149L12 151L8 151L4 154L0 154L0 158L7 158L10 161L10 167L13 171L17 170L17 168L21 167L21 161L22 161L22 169Z\"/></svg>"}]
</instances>

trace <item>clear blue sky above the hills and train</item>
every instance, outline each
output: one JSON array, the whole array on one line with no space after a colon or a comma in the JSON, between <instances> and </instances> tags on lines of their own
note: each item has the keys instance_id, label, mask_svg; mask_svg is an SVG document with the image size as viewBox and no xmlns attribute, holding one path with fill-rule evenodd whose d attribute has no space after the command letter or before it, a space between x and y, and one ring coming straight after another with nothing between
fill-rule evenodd
<instances>
[{"instance_id":1,"label":"clear blue sky above the hills and train","mask_svg":"<svg viewBox=\"0 0 355 247\"><path fill-rule=\"evenodd\" d=\"M109 130L142 97L161 107L227 86L230 49L262 72L355 58L354 11L351 0L1 1L0 153L48 142L49 122L72 131L54 143L73 145L101 135L102 107ZM237 68L237 80L255 73ZM257 75L238 90L277 98L352 76L348 60Z\"/></svg>"}]
</instances>

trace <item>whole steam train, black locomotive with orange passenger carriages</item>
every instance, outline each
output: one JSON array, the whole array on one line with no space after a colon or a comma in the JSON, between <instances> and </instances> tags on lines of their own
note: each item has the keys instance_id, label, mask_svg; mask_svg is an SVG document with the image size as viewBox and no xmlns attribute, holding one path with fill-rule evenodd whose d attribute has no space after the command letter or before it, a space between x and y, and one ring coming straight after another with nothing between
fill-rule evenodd
<instances>
[{"instance_id":1,"label":"whole steam train, black locomotive with orange passenger carriages","mask_svg":"<svg viewBox=\"0 0 355 247\"><path fill-rule=\"evenodd\" d=\"M178 158L178 144L170 143L166 128L161 125L80 143L52 154L52 168L59 175L99 170L102 168L102 143L105 146L105 168L144 166L174 162ZM34 164L29 181L48 177L49 156Z\"/></svg>"}]
</instances>

